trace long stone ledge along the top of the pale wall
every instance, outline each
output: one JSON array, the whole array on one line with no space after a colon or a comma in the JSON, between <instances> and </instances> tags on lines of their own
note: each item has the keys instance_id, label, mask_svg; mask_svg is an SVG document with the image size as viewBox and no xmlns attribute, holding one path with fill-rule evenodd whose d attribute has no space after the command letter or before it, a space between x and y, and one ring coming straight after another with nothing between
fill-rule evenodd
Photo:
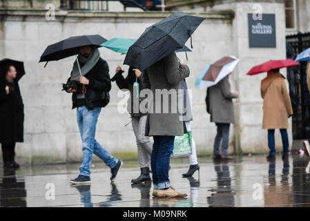
<instances>
[{"instance_id":1,"label":"long stone ledge along the top of the pale wall","mask_svg":"<svg viewBox=\"0 0 310 221\"><path fill-rule=\"evenodd\" d=\"M45 17L47 10L36 10L36 9L0 9L0 16L39 16ZM211 12L180 12L180 11L169 11L169 12L99 12L99 11L80 11L80 10L56 10L55 17L95 17L95 18L165 18L169 15L177 13L184 13L187 15L195 15L204 17L205 19L228 19L232 20L235 17L233 10L219 10Z\"/></svg>"}]
</instances>

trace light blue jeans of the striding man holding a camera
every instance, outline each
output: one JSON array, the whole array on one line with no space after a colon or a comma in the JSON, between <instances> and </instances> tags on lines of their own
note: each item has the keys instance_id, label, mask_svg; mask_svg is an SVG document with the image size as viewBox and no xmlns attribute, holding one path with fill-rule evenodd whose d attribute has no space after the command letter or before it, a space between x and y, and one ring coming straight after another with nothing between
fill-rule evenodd
<instances>
[{"instance_id":1,"label":"light blue jeans of the striding man holding a camera","mask_svg":"<svg viewBox=\"0 0 310 221\"><path fill-rule=\"evenodd\" d=\"M93 110L88 110L86 106L77 108L77 124L79 124L79 133L83 144L83 162L79 168L81 175L90 176L90 164L93 161L93 153L97 155L104 163L113 168L118 160L110 155L98 142L95 140L96 124L101 107L96 107Z\"/></svg>"}]
</instances>

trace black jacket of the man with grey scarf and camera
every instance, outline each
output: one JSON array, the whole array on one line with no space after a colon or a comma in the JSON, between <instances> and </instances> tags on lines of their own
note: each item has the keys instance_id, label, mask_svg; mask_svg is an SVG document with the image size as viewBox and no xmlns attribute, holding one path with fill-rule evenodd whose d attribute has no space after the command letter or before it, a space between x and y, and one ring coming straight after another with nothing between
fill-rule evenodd
<instances>
[{"instance_id":1,"label":"black jacket of the man with grey scarf and camera","mask_svg":"<svg viewBox=\"0 0 310 221\"><path fill-rule=\"evenodd\" d=\"M89 80L85 94L86 108L91 110L98 106L105 107L110 101L108 92L111 89L111 82L108 71L108 63L104 59L99 58L97 64L84 75ZM77 107L77 94L72 94L72 109Z\"/></svg>"}]
</instances>

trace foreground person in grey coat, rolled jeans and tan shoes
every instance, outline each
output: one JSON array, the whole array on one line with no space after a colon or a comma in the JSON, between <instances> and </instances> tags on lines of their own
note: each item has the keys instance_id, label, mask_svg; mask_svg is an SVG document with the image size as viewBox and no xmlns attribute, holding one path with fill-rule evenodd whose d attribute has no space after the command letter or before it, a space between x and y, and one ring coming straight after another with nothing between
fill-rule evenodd
<instances>
[{"instance_id":1,"label":"foreground person in grey coat, rolled jeans and tan shoes","mask_svg":"<svg viewBox=\"0 0 310 221\"><path fill-rule=\"evenodd\" d=\"M139 70L134 70L139 73ZM180 81L188 77L189 73L188 66L180 64L173 52L146 68L142 74L144 88L151 89L155 95L152 97L151 113L148 113L146 119L146 135L153 136L154 139L151 169L155 197L186 197L185 193L178 193L171 187L168 171L175 136L182 136L186 132L182 110L174 113L173 109L178 107L177 97L182 100L182 94L178 91ZM168 93L171 93L171 96Z\"/></svg>"}]
</instances>

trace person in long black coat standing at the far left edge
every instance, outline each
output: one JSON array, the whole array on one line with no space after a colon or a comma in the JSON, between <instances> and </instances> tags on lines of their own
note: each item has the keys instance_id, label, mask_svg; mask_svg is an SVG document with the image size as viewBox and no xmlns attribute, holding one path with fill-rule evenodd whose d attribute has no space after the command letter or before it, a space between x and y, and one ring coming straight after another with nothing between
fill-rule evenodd
<instances>
[{"instance_id":1,"label":"person in long black coat standing at the far left edge","mask_svg":"<svg viewBox=\"0 0 310 221\"><path fill-rule=\"evenodd\" d=\"M14 66L6 66L0 79L0 143L3 166L18 168L15 144L23 142L23 100Z\"/></svg>"}]
</instances>

